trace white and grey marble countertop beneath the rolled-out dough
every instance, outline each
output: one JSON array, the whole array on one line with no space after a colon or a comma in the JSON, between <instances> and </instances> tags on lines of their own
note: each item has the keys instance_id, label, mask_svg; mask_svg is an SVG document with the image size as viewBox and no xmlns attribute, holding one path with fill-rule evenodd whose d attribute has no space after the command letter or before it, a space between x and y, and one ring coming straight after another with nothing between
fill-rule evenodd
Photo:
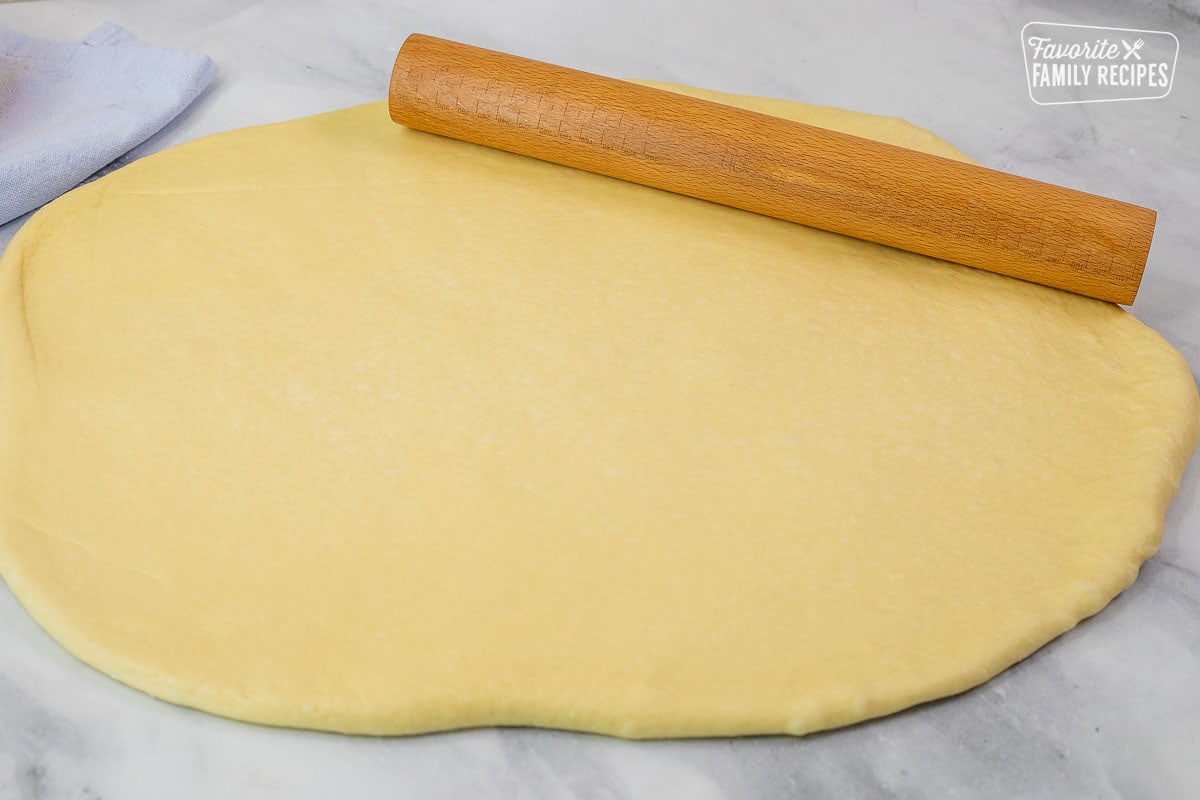
<instances>
[{"instance_id":1,"label":"white and grey marble countertop beneath the rolled-out dough","mask_svg":"<svg viewBox=\"0 0 1200 800\"><path fill-rule=\"evenodd\" d=\"M1194 0L0 4L0 26L46 38L78 40L104 20L221 67L161 146L382 98L412 31L905 116L988 166L1158 209L1133 312L1200 369ZM1172 31L1175 89L1158 101L1034 106L1019 44L1030 20ZM526 729L368 739L242 724L84 667L0 584L0 799L326 796L1200 796L1200 458L1162 552L1099 615L966 694L803 739L629 742Z\"/></svg>"}]
</instances>

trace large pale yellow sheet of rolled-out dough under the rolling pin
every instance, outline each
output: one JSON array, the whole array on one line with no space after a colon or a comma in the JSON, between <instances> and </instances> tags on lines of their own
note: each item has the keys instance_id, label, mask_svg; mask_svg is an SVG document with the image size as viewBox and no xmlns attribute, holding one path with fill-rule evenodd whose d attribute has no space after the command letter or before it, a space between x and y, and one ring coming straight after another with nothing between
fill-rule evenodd
<instances>
[{"instance_id":1,"label":"large pale yellow sheet of rolled-out dough under the rolling pin","mask_svg":"<svg viewBox=\"0 0 1200 800\"><path fill-rule=\"evenodd\" d=\"M800 734L960 692L1133 581L1200 420L1115 306L382 103L120 169L0 272L5 579L271 724Z\"/></svg>"}]
</instances>

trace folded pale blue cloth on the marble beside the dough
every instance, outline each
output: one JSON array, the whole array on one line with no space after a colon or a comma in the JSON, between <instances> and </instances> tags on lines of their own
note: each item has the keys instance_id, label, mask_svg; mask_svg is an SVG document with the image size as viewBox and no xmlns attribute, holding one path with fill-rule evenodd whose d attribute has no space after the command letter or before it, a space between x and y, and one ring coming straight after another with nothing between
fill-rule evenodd
<instances>
[{"instance_id":1,"label":"folded pale blue cloth on the marble beside the dough","mask_svg":"<svg viewBox=\"0 0 1200 800\"><path fill-rule=\"evenodd\" d=\"M206 55L106 23L79 43L0 30L0 224L79 185L187 108Z\"/></svg>"}]
</instances>

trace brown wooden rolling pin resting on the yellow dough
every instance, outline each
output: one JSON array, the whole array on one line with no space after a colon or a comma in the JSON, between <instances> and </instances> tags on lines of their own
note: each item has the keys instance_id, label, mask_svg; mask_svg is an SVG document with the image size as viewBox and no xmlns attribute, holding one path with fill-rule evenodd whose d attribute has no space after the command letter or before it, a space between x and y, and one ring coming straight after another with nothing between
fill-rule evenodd
<instances>
[{"instance_id":1,"label":"brown wooden rolling pin resting on the yellow dough","mask_svg":"<svg viewBox=\"0 0 1200 800\"><path fill-rule=\"evenodd\" d=\"M401 125L1130 303L1150 209L432 36L408 37Z\"/></svg>"}]
</instances>

